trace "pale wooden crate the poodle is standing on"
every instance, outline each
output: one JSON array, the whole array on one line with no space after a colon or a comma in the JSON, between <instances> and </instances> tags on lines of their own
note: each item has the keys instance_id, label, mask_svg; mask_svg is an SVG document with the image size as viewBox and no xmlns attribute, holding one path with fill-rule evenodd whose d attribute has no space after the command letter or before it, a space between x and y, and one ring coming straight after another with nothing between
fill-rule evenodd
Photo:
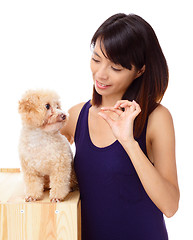
<instances>
[{"instance_id":1,"label":"pale wooden crate the poodle is standing on","mask_svg":"<svg viewBox=\"0 0 193 240\"><path fill-rule=\"evenodd\" d=\"M24 202L19 169L0 169L0 240L80 240L79 192L61 203Z\"/></svg>"}]
</instances>

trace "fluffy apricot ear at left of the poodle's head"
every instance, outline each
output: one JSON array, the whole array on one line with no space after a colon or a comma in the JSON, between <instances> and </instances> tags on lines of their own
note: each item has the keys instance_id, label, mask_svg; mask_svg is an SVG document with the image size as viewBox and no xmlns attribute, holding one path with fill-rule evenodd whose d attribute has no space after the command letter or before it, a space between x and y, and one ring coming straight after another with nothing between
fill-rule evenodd
<instances>
[{"instance_id":1,"label":"fluffy apricot ear at left of the poodle's head","mask_svg":"<svg viewBox=\"0 0 193 240\"><path fill-rule=\"evenodd\" d=\"M30 96L28 98L23 98L19 101L19 113L29 113L33 110L36 110L36 103L39 100L39 96Z\"/></svg>"}]
</instances>

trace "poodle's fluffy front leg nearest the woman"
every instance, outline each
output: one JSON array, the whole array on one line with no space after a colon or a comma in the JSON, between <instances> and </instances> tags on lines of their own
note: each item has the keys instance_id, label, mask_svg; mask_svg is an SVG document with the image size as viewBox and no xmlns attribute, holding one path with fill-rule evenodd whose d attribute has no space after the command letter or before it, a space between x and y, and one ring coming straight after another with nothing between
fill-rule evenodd
<instances>
[{"instance_id":1,"label":"poodle's fluffy front leg nearest the woman","mask_svg":"<svg viewBox=\"0 0 193 240\"><path fill-rule=\"evenodd\" d=\"M50 176L50 201L61 202L70 192L70 173L56 172Z\"/></svg>"}]
</instances>

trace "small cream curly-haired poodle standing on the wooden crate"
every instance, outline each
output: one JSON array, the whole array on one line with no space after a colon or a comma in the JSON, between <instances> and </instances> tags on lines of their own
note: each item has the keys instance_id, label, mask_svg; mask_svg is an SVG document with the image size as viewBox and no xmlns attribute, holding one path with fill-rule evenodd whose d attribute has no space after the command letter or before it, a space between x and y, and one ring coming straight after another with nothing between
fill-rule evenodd
<instances>
[{"instance_id":1,"label":"small cream curly-haired poodle standing on the wooden crate","mask_svg":"<svg viewBox=\"0 0 193 240\"><path fill-rule=\"evenodd\" d=\"M70 191L73 156L60 134L67 120L59 96L51 90L28 90L19 101L22 130L19 157L25 183L25 201L42 199L50 188L50 201L64 200ZM47 185L47 186L46 186Z\"/></svg>"}]
</instances>

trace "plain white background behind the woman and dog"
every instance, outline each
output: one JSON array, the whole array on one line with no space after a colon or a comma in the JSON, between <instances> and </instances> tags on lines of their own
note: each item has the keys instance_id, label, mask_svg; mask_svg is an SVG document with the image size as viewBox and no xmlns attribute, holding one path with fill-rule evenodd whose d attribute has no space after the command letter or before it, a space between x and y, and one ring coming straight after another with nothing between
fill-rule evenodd
<instances>
[{"instance_id":1,"label":"plain white background behind the woman and dog","mask_svg":"<svg viewBox=\"0 0 193 240\"><path fill-rule=\"evenodd\" d=\"M31 88L54 89L65 110L89 100L92 35L112 14L135 13L154 28L170 70L162 104L174 120L181 189L179 211L166 219L170 240L193 239L191 9L187 0L1 0L0 168L20 167L21 95Z\"/></svg>"}]
</instances>

